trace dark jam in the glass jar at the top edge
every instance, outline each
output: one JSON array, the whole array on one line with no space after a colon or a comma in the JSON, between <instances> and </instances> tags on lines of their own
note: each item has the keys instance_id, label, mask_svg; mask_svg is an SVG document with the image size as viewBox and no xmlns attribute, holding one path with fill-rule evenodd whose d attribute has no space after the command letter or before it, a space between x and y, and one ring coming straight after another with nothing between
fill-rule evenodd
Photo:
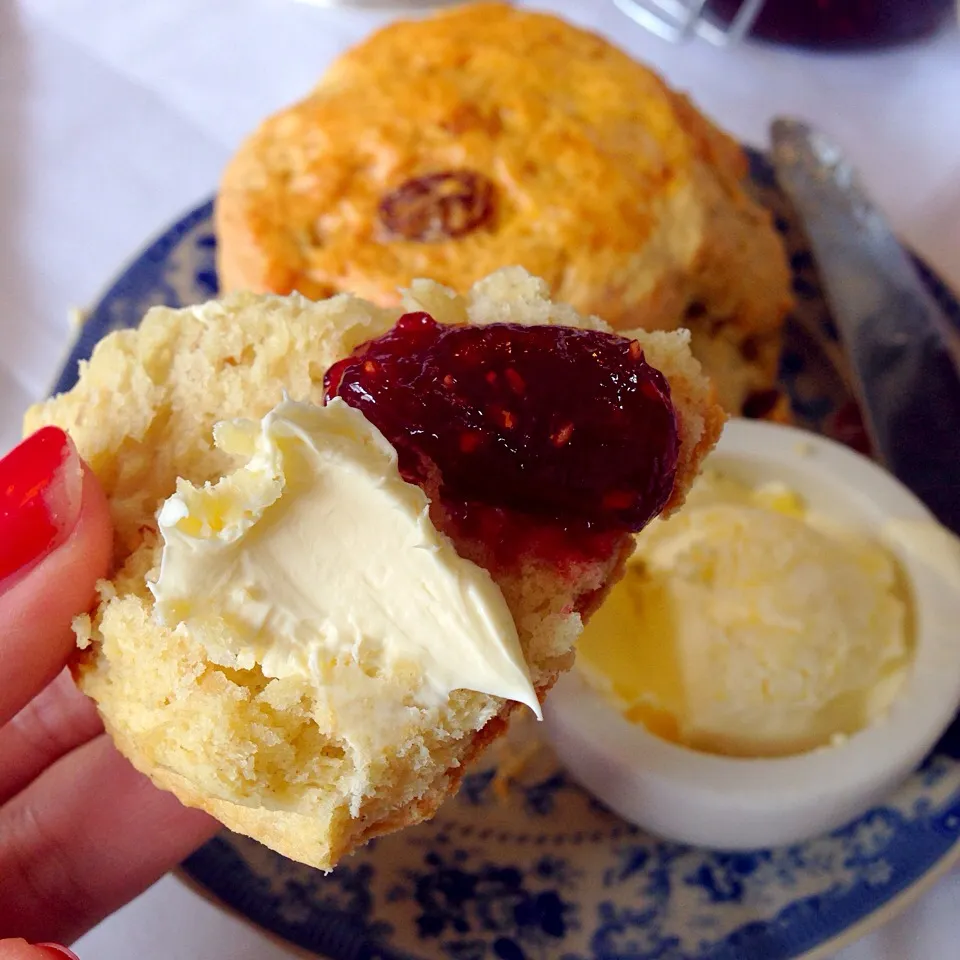
<instances>
[{"instance_id":1,"label":"dark jam in the glass jar at the top edge","mask_svg":"<svg viewBox=\"0 0 960 960\"><path fill-rule=\"evenodd\" d=\"M729 23L745 0L708 0ZM766 0L748 36L798 47L889 47L930 37L956 14L956 0Z\"/></svg>"}]
</instances>

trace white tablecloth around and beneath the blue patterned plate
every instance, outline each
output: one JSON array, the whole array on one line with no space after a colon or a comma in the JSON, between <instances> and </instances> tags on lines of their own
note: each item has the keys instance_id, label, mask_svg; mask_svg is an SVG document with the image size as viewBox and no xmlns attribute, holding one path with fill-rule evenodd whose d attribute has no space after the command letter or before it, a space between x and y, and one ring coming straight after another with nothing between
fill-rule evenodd
<instances>
[{"instance_id":1,"label":"white tablecloth around and beneath the blue patterned plate","mask_svg":"<svg viewBox=\"0 0 960 960\"><path fill-rule=\"evenodd\" d=\"M762 143L775 113L834 134L898 230L960 287L960 36L870 56L671 47L607 0L542 0L658 67ZM383 22L292 0L0 0L0 450L91 303L143 242L207 197L230 152ZM947 960L960 874L842 960ZM289 957L167 877L77 946L83 960Z\"/></svg>"}]
</instances>

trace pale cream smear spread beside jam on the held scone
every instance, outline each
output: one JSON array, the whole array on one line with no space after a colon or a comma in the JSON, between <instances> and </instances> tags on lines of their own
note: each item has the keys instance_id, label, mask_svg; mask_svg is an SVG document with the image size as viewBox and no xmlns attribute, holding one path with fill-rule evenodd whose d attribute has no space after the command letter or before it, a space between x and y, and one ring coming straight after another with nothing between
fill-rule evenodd
<instances>
[{"instance_id":1,"label":"pale cream smear spread beside jam on the held scone","mask_svg":"<svg viewBox=\"0 0 960 960\"><path fill-rule=\"evenodd\" d=\"M414 679L424 705L468 689L540 715L500 588L436 530L362 413L284 400L259 422L217 424L214 438L247 463L216 484L180 480L163 505L148 584L163 625L222 666L309 680L333 717L387 721L384 673ZM332 682L350 661L349 682L342 671Z\"/></svg>"}]
</instances>

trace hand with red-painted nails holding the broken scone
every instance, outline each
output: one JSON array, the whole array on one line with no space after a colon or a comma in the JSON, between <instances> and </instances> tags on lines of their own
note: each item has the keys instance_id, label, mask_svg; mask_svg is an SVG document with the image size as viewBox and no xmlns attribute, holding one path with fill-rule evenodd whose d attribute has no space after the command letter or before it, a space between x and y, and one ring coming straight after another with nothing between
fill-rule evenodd
<instances>
[{"instance_id":1,"label":"hand with red-painted nails holding the broken scone","mask_svg":"<svg viewBox=\"0 0 960 960\"><path fill-rule=\"evenodd\" d=\"M112 529L57 427L0 460L0 938L69 942L216 829L117 753L64 670ZM0 939L3 960L56 955Z\"/></svg>"}]
</instances>

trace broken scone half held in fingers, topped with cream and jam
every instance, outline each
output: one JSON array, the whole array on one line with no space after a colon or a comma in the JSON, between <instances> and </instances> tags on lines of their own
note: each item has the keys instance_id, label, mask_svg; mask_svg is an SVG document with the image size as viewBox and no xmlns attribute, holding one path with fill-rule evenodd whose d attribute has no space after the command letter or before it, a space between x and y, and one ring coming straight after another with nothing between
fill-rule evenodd
<instances>
[{"instance_id":1,"label":"broken scone half held in fingers, topped with cream and jam","mask_svg":"<svg viewBox=\"0 0 960 960\"><path fill-rule=\"evenodd\" d=\"M371 659L359 633L349 648L303 653L323 625L301 617L290 627L277 610L331 596L330 584L303 582L308 561L340 577L336 602L356 586L341 567L370 581L358 595L371 609L353 611L361 627L368 612L393 616L386 592L405 571L390 556L379 572L358 559L388 535L375 512L334 505L315 514L325 521L296 521L270 541L284 516L270 514L271 498L300 503L304 483L302 465L287 462L281 489L283 445L322 421L331 448L349 447L362 421L383 484L422 502L427 552L469 566L472 584L490 581L482 588L507 623L487 639L515 644L523 677L513 679L536 708L619 577L632 531L682 501L723 421L686 331L615 336L518 268L462 296L418 281L400 300L241 293L154 308L138 329L105 338L78 384L26 420L27 430L67 430L109 498L114 572L75 625L74 674L120 750L183 802L321 869L432 816L526 708L522 693L484 681L479 654L462 685L421 696L416 651L442 659L456 640L442 598L406 637L406 659ZM321 511L334 495L309 492ZM338 534L347 521L353 532ZM261 547L283 545L276 597L242 581L255 544L225 533L261 528ZM226 546L202 553L218 537ZM233 566L223 565L228 548ZM396 564L404 557L398 548ZM285 578L297 577L288 591ZM472 590L448 606L473 602ZM285 592L296 594L287 607ZM252 627L241 608L255 611ZM419 615L401 613L405 623Z\"/></svg>"}]
</instances>

